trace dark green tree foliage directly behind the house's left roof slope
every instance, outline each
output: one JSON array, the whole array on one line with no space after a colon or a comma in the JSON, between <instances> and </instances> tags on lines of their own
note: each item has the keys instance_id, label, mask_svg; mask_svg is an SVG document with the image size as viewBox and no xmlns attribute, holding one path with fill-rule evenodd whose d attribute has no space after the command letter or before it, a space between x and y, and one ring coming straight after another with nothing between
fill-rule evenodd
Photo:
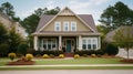
<instances>
[{"instance_id":1,"label":"dark green tree foliage directly behind the house's left roof slope","mask_svg":"<svg viewBox=\"0 0 133 74\"><path fill-rule=\"evenodd\" d=\"M48 10L48 8L44 9L39 8L34 10L34 12L31 15L27 17L22 21L22 25L27 29L27 32L31 34L35 31L39 20L43 14L57 14L59 11L60 11L59 7L51 10Z\"/></svg>"}]
</instances>

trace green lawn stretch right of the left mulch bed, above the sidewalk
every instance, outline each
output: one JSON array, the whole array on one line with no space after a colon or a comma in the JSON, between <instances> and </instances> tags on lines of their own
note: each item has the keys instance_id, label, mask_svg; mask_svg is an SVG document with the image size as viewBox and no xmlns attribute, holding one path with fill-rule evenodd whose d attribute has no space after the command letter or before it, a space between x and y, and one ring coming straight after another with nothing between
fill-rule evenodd
<instances>
[{"instance_id":1,"label":"green lawn stretch right of the left mulch bed, above the sidewalk","mask_svg":"<svg viewBox=\"0 0 133 74\"><path fill-rule=\"evenodd\" d=\"M125 64L120 62L121 59L75 59L75 60L37 60L35 64Z\"/></svg>"}]
</instances>

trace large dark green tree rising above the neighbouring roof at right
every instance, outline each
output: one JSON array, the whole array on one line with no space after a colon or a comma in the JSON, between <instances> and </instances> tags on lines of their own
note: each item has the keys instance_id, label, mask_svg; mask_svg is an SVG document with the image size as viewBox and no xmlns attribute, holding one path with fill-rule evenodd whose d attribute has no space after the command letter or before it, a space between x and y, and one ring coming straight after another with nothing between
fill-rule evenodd
<instances>
[{"instance_id":1,"label":"large dark green tree rising above the neighbouring roof at right","mask_svg":"<svg viewBox=\"0 0 133 74\"><path fill-rule=\"evenodd\" d=\"M99 21L110 31L121 25L133 25L133 10L119 1L114 6L109 6L101 14Z\"/></svg>"}]
</instances>

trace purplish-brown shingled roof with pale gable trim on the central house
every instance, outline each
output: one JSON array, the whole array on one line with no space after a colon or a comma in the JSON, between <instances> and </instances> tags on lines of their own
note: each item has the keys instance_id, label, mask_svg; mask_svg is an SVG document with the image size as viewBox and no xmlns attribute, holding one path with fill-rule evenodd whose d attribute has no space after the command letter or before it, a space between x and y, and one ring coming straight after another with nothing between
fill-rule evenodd
<instances>
[{"instance_id":1,"label":"purplish-brown shingled roof with pale gable trim on the central house","mask_svg":"<svg viewBox=\"0 0 133 74\"><path fill-rule=\"evenodd\" d=\"M63 13L66 10L66 13ZM52 20L54 20L58 15L75 15L81 22L83 22L88 28L90 28L93 32L98 33L93 18L91 14L75 14L68 7L60 11L57 15L43 15L39 22L39 25L35 32L42 31L44 27L47 27Z\"/></svg>"}]
</instances>

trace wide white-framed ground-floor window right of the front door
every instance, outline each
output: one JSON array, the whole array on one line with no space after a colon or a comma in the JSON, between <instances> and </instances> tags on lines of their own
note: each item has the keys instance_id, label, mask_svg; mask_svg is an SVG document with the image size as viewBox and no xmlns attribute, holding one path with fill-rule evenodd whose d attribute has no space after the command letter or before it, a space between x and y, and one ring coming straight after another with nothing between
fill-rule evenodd
<instances>
[{"instance_id":1,"label":"wide white-framed ground-floor window right of the front door","mask_svg":"<svg viewBox=\"0 0 133 74\"><path fill-rule=\"evenodd\" d=\"M96 38L84 38L82 40L82 49L83 50L96 50L98 47L98 39Z\"/></svg>"}]
</instances>

